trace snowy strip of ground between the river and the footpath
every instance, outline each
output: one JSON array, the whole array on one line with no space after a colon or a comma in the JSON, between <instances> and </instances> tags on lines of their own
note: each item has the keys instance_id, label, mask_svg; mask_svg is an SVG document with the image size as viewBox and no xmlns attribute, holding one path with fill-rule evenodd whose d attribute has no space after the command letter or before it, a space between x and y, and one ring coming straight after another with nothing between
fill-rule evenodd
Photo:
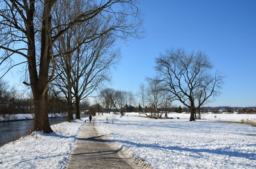
<instances>
[{"instance_id":1,"label":"snowy strip of ground between the river and the footpath","mask_svg":"<svg viewBox=\"0 0 256 169\"><path fill-rule=\"evenodd\" d=\"M33 132L0 147L0 168L65 168L83 120L52 125L56 133Z\"/></svg>"}]
</instances>

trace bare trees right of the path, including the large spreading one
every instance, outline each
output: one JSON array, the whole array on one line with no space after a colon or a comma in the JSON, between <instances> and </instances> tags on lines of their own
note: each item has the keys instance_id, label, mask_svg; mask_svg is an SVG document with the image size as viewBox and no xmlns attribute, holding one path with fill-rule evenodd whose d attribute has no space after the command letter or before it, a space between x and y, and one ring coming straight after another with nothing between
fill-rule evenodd
<instances>
[{"instance_id":1,"label":"bare trees right of the path, including the large spreading one","mask_svg":"<svg viewBox=\"0 0 256 169\"><path fill-rule=\"evenodd\" d=\"M141 84L138 92L141 109L148 117L167 117L172 101L177 100L189 109L190 121L200 119L200 108L218 96L224 79L213 71L206 54L186 52L184 48L170 48L160 54L155 68L157 77L147 78L147 85ZM106 112L114 107L122 114L129 97L127 92L105 89L100 98ZM177 108L176 112L180 111L181 107Z\"/></svg>"}]
</instances>

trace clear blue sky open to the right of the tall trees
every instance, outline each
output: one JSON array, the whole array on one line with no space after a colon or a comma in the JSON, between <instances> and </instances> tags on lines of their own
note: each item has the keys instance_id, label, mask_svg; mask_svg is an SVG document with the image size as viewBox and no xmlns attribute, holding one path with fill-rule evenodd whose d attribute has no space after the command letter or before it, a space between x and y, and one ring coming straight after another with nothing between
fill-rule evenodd
<instances>
[{"instance_id":1,"label":"clear blue sky open to the right of the tall trees","mask_svg":"<svg viewBox=\"0 0 256 169\"><path fill-rule=\"evenodd\" d=\"M154 58L170 47L202 50L227 76L209 106L256 106L256 1L145 0L145 38L120 42L122 61L109 87L138 92Z\"/></svg>"}]
</instances>

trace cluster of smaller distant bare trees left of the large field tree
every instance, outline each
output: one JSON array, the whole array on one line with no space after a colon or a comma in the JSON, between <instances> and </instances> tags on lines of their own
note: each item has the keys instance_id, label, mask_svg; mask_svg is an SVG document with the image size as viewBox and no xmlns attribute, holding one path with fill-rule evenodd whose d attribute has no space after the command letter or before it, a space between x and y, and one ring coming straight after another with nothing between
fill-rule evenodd
<instances>
[{"instance_id":1,"label":"cluster of smaller distant bare trees left of the large field tree","mask_svg":"<svg viewBox=\"0 0 256 169\"><path fill-rule=\"evenodd\" d=\"M102 89L99 98L104 112L119 112L121 115L124 115L124 112L140 112L155 118L160 118L163 114L167 117L168 112L175 112L177 108L173 108L171 104L173 98L163 91L160 83L152 79L147 82L147 87L141 84L137 100L132 92Z\"/></svg>"}]
</instances>

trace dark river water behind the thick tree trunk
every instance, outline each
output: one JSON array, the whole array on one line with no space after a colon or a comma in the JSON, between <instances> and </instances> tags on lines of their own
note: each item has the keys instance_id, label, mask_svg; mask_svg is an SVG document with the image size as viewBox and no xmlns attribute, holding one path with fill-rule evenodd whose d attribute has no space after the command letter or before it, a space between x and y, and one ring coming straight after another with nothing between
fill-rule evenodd
<instances>
[{"instance_id":1,"label":"dark river water behind the thick tree trunk","mask_svg":"<svg viewBox=\"0 0 256 169\"><path fill-rule=\"evenodd\" d=\"M65 121L67 121L66 117L49 118L51 125ZM0 146L28 135L33 127L33 122L33 120L0 122Z\"/></svg>"}]
</instances>

